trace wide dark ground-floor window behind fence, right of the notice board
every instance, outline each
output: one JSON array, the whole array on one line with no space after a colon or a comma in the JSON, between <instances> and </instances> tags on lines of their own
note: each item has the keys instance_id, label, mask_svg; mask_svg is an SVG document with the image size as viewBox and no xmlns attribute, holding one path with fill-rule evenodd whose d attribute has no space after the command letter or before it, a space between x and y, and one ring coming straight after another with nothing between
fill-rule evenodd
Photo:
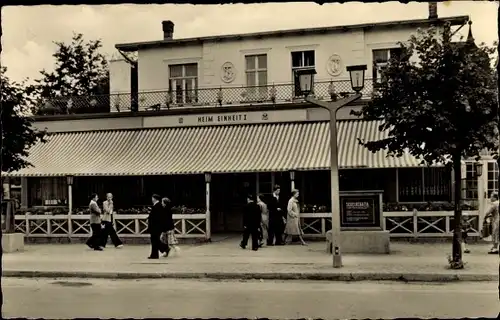
<instances>
[{"instance_id":1,"label":"wide dark ground-floor window behind fence, right of the notice board","mask_svg":"<svg viewBox=\"0 0 500 320\"><path fill-rule=\"evenodd\" d=\"M451 201L448 168L399 169L399 202Z\"/></svg>"}]
</instances>

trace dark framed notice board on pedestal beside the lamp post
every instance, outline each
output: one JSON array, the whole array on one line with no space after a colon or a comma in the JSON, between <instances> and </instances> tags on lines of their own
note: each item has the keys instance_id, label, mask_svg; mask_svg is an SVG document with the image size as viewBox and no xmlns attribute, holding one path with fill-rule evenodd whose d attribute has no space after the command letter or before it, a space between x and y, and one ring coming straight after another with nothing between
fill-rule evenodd
<instances>
[{"instance_id":1,"label":"dark framed notice board on pedestal beside the lamp post","mask_svg":"<svg viewBox=\"0 0 500 320\"><path fill-rule=\"evenodd\" d=\"M341 230L382 230L382 192L340 193Z\"/></svg>"}]
</instances>

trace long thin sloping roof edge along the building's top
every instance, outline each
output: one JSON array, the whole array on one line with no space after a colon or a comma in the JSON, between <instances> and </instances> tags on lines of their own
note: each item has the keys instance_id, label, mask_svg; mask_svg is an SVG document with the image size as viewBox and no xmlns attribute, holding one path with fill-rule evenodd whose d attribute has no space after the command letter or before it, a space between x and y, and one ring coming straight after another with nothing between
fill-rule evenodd
<instances>
[{"instance_id":1,"label":"long thin sloping roof edge along the building's top","mask_svg":"<svg viewBox=\"0 0 500 320\"><path fill-rule=\"evenodd\" d=\"M355 29L375 29L375 28L387 28L387 27L404 27L404 26L425 26L430 24L443 24L449 22L453 25L463 25L469 21L469 16L455 16L455 17L444 17L438 19L415 19L415 20L402 20L402 21L388 21L388 22L378 22L378 23L365 23L347 26L334 26L334 27L321 27L321 28L307 28L307 29L291 29L291 30L278 30L278 31L268 31L268 32L254 32L254 33L242 33L242 34L229 34L229 35L219 35L219 36L209 36L209 37L197 37L197 38L184 38L184 39L171 39L171 40L158 40L158 41L148 41L148 42L136 42L136 43L122 43L116 44L115 48L125 52L137 51L139 49L152 49L152 48L162 48L162 47L175 47L181 45L189 44L199 44L205 41L239 41L245 39L264 39L273 37L284 37L284 36L306 36L314 34L325 34L334 32L346 32Z\"/></svg>"}]
</instances>

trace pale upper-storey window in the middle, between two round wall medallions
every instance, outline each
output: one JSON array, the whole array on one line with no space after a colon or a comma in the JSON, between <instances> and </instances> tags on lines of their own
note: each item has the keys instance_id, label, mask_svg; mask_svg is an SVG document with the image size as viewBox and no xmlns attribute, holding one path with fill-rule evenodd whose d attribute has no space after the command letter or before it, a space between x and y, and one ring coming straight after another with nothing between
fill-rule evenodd
<instances>
[{"instance_id":1,"label":"pale upper-storey window in the middle, between two round wall medallions","mask_svg":"<svg viewBox=\"0 0 500 320\"><path fill-rule=\"evenodd\" d=\"M245 56L248 99L267 100L267 55Z\"/></svg>"}]
</instances>

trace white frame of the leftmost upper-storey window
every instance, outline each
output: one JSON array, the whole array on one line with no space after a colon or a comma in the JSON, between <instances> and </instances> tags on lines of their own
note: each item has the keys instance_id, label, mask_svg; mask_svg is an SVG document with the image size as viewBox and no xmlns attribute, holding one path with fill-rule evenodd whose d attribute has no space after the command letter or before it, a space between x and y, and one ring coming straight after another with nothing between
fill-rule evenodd
<instances>
[{"instance_id":1,"label":"white frame of the leftmost upper-storey window","mask_svg":"<svg viewBox=\"0 0 500 320\"><path fill-rule=\"evenodd\" d=\"M196 65L196 76L187 76L186 75L186 67ZM180 77L172 77L171 68L181 66L182 67L182 76ZM168 65L168 83L170 86L170 94L172 97L172 103L174 104L189 104L195 103L198 101L198 63L179 63L179 64L169 64ZM184 88L186 88L187 84L191 83L192 91L187 92ZM182 92L180 94L177 93L177 84L180 84Z\"/></svg>"}]
</instances>

